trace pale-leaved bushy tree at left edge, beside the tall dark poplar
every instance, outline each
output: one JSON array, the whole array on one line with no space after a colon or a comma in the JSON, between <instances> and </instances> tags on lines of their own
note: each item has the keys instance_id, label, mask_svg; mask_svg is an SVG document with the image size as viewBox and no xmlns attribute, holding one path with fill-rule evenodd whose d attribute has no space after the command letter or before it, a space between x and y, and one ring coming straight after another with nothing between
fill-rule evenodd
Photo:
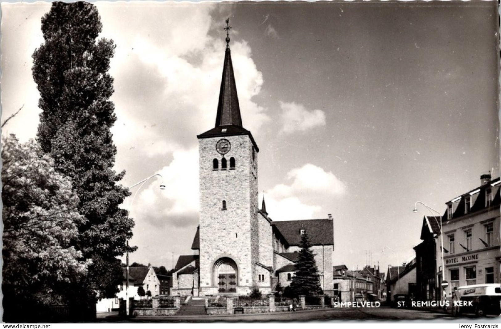
<instances>
[{"instance_id":1,"label":"pale-leaved bushy tree at left edge, beside the tall dark poplar","mask_svg":"<svg viewBox=\"0 0 501 329\"><path fill-rule=\"evenodd\" d=\"M61 302L91 262L72 245L86 219L54 160L34 140L20 143L11 134L2 142L2 161L4 320L20 321L35 313L33 306Z\"/></svg>"}]
</instances>

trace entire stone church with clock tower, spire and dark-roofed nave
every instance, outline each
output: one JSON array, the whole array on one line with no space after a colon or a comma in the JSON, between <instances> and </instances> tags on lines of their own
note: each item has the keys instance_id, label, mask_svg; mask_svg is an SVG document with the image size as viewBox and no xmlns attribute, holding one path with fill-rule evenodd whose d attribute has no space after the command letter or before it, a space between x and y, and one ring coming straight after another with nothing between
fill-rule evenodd
<instances>
[{"instance_id":1,"label":"entire stone church with clock tower, spire and dark-roofed nave","mask_svg":"<svg viewBox=\"0 0 501 329\"><path fill-rule=\"evenodd\" d=\"M263 294L290 284L301 236L313 244L320 285L333 294L333 219L274 222L258 205L259 147L242 125L226 21L226 50L214 128L198 135L199 226L172 273L172 295Z\"/></svg>"}]
</instances>

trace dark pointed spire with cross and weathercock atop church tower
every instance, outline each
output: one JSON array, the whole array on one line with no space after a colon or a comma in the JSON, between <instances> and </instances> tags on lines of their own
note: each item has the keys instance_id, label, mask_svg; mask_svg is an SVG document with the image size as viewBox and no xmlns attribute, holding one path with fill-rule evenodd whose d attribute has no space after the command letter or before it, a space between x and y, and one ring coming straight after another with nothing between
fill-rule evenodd
<instances>
[{"instance_id":1,"label":"dark pointed spire with cross and weathercock atop church tower","mask_svg":"<svg viewBox=\"0 0 501 329\"><path fill-rule=\"evenodd\" d=\"M219 89L219 101L215 127L223 125L242 126L238 95L236 94L233 64L231 63L231 51L229 50L229 18L226 20L226 51L224 52L224 65L222 69L221 88Z\"/></svg>"}]
</instances>

